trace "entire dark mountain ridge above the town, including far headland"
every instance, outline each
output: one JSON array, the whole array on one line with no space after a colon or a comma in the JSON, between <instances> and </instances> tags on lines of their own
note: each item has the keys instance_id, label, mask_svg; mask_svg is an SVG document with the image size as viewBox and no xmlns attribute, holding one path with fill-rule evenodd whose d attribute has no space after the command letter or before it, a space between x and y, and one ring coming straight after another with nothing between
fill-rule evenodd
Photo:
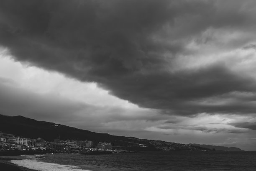
<instances>
[{"instance_id":1,"label":"entire dark mountain ridge above the town, including far headland","mask_svg":"<svg viewBox=\"0 0 256 171\"><path fill-rule=\"evenodd\" d=\"M0 131L18 135L24 138L44 138L51 142L55 138L61 140L92 140L98 142L110 142L113 146L126 146L125 148L138 151L212 151L219 150L220 146L200 146L198 144L185 145L170 143L161 140L147 140L134 137L116 136L107 133L95 133L89 130L81 130L61 124L37 121L23 116L0 115ZM144 146L144 147L141 147ZM147 146L145 148L145 146ZM223 147L220 150L241 151L239 148Z\"/></svg>"}]
</instances>

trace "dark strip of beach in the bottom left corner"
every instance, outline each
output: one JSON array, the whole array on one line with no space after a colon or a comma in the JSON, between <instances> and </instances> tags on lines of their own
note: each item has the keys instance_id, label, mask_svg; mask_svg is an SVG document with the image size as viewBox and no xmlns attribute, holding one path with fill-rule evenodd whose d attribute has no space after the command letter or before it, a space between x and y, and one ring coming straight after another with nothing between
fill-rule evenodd
<instances>
[{"instance_id":1,"label":"dark strip of beach in the bottom left corner","mask_svg":"<svg viewBox=\"0 0 256 171\"><path fill-rule=\"evenodd\" d=\"M9 156L0 157L0 168L3 171L37 171L26 167L18 166L13 164L10 160L20 160L19 158L8 158Z\"/></svg>"}]
</instances>

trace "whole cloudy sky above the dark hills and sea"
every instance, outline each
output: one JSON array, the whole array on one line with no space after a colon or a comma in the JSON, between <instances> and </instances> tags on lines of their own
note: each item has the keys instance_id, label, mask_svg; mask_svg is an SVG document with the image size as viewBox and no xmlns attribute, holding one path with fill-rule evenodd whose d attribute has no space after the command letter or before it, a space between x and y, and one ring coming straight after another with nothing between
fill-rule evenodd
<instances>
[{"instance_id":1,"label":"whole cloudy sky above the dark hills and sea","mask_svg":"<svg viewBox=\"0 0 256 171\"><path fill-rule=\"evenodd\" d=\"M255 0L1 0L0 114L256 150Z\"/></svg>"}]
</instances>

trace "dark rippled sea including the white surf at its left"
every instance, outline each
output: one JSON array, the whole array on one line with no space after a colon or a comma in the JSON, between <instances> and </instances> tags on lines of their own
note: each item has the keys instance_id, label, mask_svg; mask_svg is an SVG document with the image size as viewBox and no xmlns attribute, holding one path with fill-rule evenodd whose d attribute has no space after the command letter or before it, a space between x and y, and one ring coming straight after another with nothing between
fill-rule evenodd
<instances>
[{"instance_id":1,"label":"dark rippled sea including the white surf at its left","mask_svg":"<svg viewBox=\"0 0 256 171\"><path fill-rule=\"evenodd\" d=\"M256 151L46 154L12 162L38 171L256 171Z\"/></svg>"}]
</instances>

